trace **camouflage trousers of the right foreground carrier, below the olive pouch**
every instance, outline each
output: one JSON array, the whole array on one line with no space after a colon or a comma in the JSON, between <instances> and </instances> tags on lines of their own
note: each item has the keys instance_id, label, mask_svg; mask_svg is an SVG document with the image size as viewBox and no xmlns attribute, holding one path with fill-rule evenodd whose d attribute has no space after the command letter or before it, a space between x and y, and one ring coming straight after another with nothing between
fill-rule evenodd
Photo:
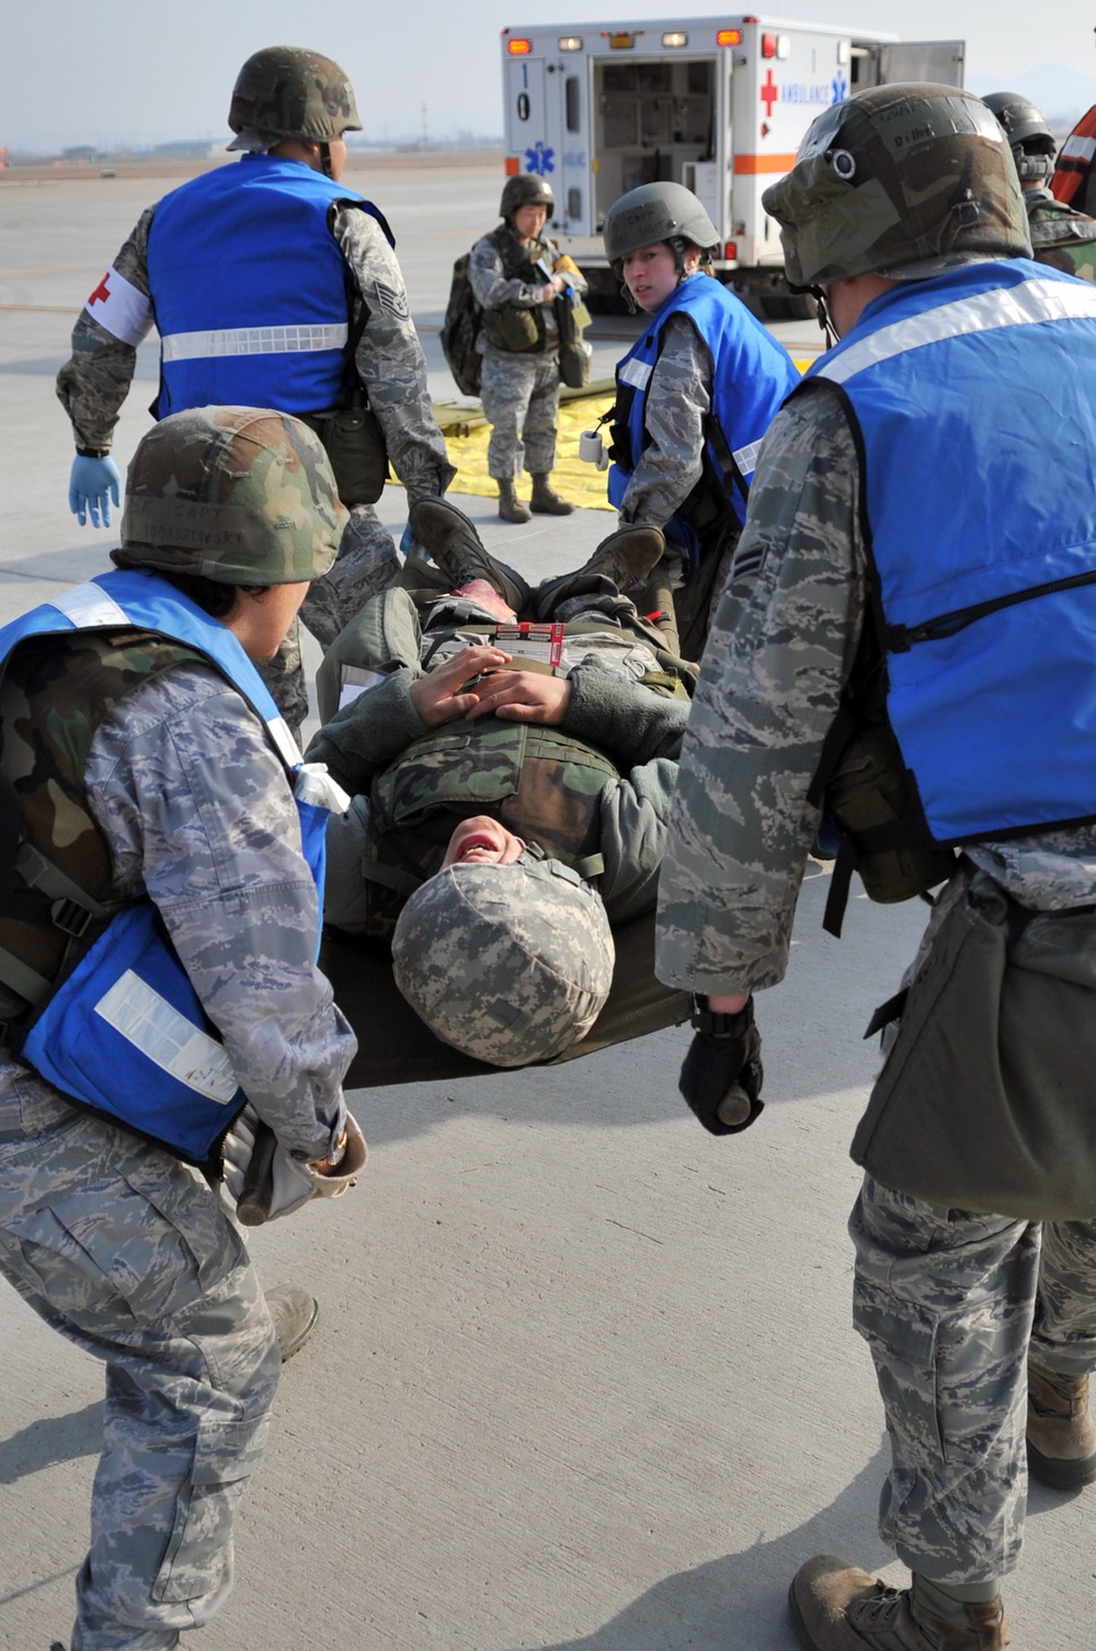
<instances>
[{"instance_id":1,"label":"camouflage trousers of the right foreground carrier, below the olive pouch","mask_svg":"<svg viewBox=\"0 0 1096 1651\"><path fill-rule=\"evenodd\" d=\"M891 1441L880 1535L933 1582L1000 1578L1023 1542L1028 1347L1042 1370L1096 1369L1096 1222L941 1209L867 1176L848 1230Z\"/></svg>"}]
</instances>

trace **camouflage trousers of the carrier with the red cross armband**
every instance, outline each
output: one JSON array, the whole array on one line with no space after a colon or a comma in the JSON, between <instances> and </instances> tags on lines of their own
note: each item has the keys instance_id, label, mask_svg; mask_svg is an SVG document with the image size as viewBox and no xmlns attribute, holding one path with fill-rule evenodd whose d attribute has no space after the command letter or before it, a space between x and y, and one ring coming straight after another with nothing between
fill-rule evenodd
<instances>
[{"instance_id":1,"label":"camouflage trousers of the carrier with the red cross armband","mask_svg":"<svg viewBox=\"0 0 1096 1651\"><path fill-rule=\"evenodd\" d=\"M335 565L322 580L312 581L289 636L274 659L259 665L274 703L297 738L309 715L300 624L309 627L320 647L330 647L370 596L386 589L398 573L399 558L391 533L381 525L373 505L355 505L343 528Z\"/></svg>"}]
</instances>

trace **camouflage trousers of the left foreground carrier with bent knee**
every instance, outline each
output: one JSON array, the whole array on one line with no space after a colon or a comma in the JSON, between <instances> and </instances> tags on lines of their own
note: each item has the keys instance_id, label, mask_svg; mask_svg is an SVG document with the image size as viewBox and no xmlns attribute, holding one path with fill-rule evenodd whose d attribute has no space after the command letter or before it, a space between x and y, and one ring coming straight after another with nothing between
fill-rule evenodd
<instances>
[{"instance_id":1,"label":"camouflage trousers of the left foreground carrier with bent knee","mask_svg":"<svg viewBox=\"0 0 1096 1651\"><path fill-rule=\"evenodd\" d=\"M205 1180L0 1055L0 1271L106 1364L73 1651L165 1651L233 1585L279 1349Z\"/></svg>"}]
</instances>

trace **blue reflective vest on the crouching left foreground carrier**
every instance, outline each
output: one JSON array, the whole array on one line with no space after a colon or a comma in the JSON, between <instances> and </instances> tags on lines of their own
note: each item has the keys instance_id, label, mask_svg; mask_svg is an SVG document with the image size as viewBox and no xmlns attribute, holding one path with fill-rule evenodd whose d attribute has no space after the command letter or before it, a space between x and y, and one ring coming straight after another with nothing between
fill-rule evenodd
<instances>
[{"instance_id":1,"label":"blue reflective vest on the crouching left foreground carrier","mask_svg":"<svg viewBox=\"0 0 1096 1651\"><path fill-rule=\"evenodd\" d=\"M233 632L155 573L107 573L0 631L0 672L31 636L134 627L201 652L266 723L287 783L300 753ZM297 802L322 900L328 812ZM319 925L315 948L319 956ZM20 1057L78 1105L206 1164L246 1101L149 898L124 906L36 1010Z\"/></svg>"}]
</instances>

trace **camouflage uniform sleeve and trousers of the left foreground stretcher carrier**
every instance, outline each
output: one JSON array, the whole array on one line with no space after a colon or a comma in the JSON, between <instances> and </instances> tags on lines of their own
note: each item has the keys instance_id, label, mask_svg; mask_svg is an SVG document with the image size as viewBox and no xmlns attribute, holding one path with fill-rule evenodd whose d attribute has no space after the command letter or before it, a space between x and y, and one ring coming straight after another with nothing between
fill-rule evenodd
<instances>
[{"instance_id":1,"label":"camouflage uniform sleeve and trousers of the left foreground stretcher carrier","mask_svg":"<svg viewBox=\"0 0 1096 1651\"><path fill-rule=\"evenodd\" d=\"M327 1156L355 1038L312 961L315 888L256 715L180 665L102 721L86 783L114 893L155 900L251 1103L294 1154ZM0 1052L0 1268L107 1367L73 1651L170 1646L231 1587L277 1384L244 1245L195 1171Z\"/></svg>"}]
</instances>

